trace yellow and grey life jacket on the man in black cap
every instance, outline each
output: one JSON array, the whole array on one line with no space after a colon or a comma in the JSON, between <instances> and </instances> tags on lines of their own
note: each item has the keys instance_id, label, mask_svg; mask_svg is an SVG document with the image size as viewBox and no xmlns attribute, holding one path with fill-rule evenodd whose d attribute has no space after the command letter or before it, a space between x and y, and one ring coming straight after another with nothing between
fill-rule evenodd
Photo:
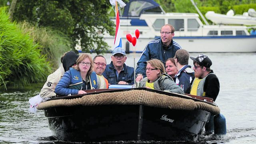
<instances>
[{"instance_id":1,"label":"yellow and grey life jacket on the man in black cap","mask_svg":"<svg viewBox=\"0 0 256 144\"><path fill-rule=\"evenodd\" d=\"M210 74L214 74L214 73L210 73ZM209 76L210 74L208 74L207 76ZM207 76L205 76L202 79L199 79L199 78L194 79L192 86L191 86L190 94L196 95L196 96L205 96L206 95L204 92L204 82L205 82Z\"/></svg>"}]
</instances>

